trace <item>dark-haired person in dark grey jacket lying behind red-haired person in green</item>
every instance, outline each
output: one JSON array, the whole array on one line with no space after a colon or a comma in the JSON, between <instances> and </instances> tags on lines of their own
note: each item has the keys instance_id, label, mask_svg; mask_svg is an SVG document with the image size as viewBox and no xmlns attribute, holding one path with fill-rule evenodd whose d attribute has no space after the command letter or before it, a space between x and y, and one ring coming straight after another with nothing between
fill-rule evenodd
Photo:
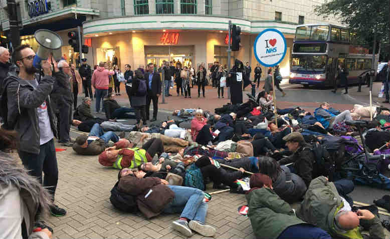
<instances>
[{"instance_id":1,"label":"dark-haired person in dark grey jacket lying behind red-haired person in green","mask_svg":"<svg viewBox=\"0 0 390 239\"><path fill-rule=\"evenodd\" d=\"M306 184L300 176L291 173L288 167L281 167L273 158L261 157L259 168L260 173L272 179L273 190L282 200L289 203L302 200L307 190Z\"/></svg>"}]
</instances>

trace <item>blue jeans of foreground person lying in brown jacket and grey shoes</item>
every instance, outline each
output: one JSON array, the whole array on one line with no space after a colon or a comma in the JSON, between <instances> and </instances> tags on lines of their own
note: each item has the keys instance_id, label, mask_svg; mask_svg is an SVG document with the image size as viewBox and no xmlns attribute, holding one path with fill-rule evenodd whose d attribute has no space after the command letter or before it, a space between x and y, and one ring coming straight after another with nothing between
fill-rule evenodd
<instances>
[{"instance_id":1,"label":"blue jeans of foreground person lying in brown jacket and grey shoes","mask_svg":"<svg viewBox=\"0 0 390 239\"><path fill-rule=\"evenodd\" d=\"M166 205L163 212L179 213L180 217L205 223L208 204L203 201L205 193L192 187L167 185L173 192L174 198Z\"/></svg>"}]
</instances>

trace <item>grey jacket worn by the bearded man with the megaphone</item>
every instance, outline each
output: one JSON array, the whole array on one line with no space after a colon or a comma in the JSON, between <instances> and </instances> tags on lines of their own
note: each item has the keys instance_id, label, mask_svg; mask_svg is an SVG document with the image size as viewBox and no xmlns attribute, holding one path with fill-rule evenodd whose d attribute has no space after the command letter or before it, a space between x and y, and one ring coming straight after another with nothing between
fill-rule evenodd
<instances>
[{"instance_id":1,"label":"grey jacket worn by the bearded man with the megaphone","mask_svg":"<svg viewBox=\"0 0 390 239\"><path fill-rule=\"evenodd\" d=\"M9 76L4 81L7 89L7 128L15 129L21 135L20 148L24 152L39 154L40 134L37 108L46 100L50 126L57 135L56 121L51 106L50 92L54 79L45 76L34 89L28 81Z\"/></svg>"}]
</instances>

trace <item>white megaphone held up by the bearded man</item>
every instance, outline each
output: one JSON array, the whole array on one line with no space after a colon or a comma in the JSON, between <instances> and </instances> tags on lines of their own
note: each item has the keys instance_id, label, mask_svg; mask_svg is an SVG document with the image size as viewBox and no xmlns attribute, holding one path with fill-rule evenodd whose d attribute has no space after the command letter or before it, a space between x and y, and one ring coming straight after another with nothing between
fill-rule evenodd
<instances>
[{"instance_id":1,"label":"white megaphone held up by the bearded man","mask_svg":"<svg viewBox=\"0 0 390 239\"><path fill-rule=\"evenodd\" d=\"M39 44L37 54L34 57L33 66L35 68L41 68L41 61L47 60L50 54L53 55L56 61L59 61L61 57L61 37L50 30L40 29L34 33L34 38ZM58 59L56 59L58 58Z\"/></svg>"}]
</instances>

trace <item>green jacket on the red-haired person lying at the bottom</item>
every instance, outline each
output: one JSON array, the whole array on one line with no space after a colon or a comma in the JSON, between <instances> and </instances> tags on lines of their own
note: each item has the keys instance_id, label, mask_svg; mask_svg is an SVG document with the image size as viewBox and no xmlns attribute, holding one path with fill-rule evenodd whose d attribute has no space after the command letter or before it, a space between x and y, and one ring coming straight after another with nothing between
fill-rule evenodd
<instances>
[{"instance_id":1,"label":"green jacket on the red-haired person lying at the bottom","mask_svg":"<svg viewBox=\"0 0 390 239\"><path fill-rule=\"evenodd\" d=\"M255 189L246 195L256 238L277 238L287 227L306 223L294 215L290 205L269 188Z\"/></svg>"}]
</instances>

